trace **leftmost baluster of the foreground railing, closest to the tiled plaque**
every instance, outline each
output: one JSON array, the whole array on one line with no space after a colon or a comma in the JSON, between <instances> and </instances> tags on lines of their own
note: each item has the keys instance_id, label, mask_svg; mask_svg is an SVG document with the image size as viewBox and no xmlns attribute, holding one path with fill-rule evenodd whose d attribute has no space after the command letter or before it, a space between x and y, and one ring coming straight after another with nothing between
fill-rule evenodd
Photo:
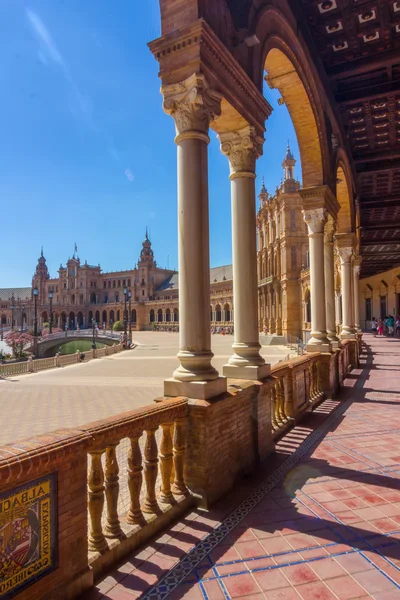
<instances>
[{"instance_id":1,"label":"leftmost baluster of the foreground railing, closest to the tiled plaque","mask_svg":"<svg viewBox=\"0 0 400 600\"><path fill-rule=\"evenodd\" d=\"M107 542L103 534L101 518L104 508L104 473L101 455L104 450L90 452L91 462L88 477L89 503L89 550L105 550Z\"/></svg>"}]
</instances>

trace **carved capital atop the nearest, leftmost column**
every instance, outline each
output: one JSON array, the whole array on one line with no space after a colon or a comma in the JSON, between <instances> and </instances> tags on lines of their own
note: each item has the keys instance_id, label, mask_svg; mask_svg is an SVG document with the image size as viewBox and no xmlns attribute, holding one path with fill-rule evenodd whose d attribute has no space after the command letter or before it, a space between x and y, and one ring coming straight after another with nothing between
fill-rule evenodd
<instances>
[{"instance_id":1,"label":"carved capital atop the nearest, leftmost column","mask_svg":"<svg viewBox=\"0 0 400 600\"><path fill-rule=\"evenodd\" d=\"M177 134L208 133L211 121L221 114L222 95L212 90L204 75L194 73L185 81L161 88L164 111L175 120Z\"/></svg>"}]
</instances>

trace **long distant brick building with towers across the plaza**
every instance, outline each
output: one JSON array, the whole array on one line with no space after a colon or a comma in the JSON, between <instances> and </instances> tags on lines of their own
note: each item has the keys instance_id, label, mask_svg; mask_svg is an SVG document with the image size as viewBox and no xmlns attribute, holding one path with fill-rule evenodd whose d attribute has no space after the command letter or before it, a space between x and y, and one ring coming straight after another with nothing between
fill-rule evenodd
<instances>
[{"instance_id":1,"label":"long distant brick building with towers across the plaza","mask_svg":"<svg viewBox=\"0 0 400 600\"><path fill-rule=\"evenodd\" d=\"M217 267L210 272L210 319L212 325L232 327L232 266ZM50 277L43 250L32 278L32 287L0 289L0 324L2 327L32 327L34 322L33 289L39 291L37 319L41 328L50 320L50 293L53 294L53 326L65 329L91 327L111 328L124 320L124 290L127 320L133 329L179 326L178 274L161 269L154 258L147 235L137 264L127 271L103 272L100 265L81 263L74 253L58 277Z\"/></svg>"}]
</instances>

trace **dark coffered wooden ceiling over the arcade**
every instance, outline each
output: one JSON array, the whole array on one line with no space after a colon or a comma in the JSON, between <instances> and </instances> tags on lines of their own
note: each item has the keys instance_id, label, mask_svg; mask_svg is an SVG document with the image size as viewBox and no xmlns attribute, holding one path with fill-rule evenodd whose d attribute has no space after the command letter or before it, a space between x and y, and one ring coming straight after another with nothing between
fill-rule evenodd
<instances>
[{"instance_id":1,"label":"dark coffered wooden ceiling over the arcade","mask_svg":"<svg viewBox=\"0 0 400 600\"><path fill-rule=\"evenodd\" d=\"M249 6L227 0L237 27ZM357 173L362 275L400 265L400 0L289 0L322 59ZM316 58L319 61L319 58Z\"/></svg>"}]
</instances>

